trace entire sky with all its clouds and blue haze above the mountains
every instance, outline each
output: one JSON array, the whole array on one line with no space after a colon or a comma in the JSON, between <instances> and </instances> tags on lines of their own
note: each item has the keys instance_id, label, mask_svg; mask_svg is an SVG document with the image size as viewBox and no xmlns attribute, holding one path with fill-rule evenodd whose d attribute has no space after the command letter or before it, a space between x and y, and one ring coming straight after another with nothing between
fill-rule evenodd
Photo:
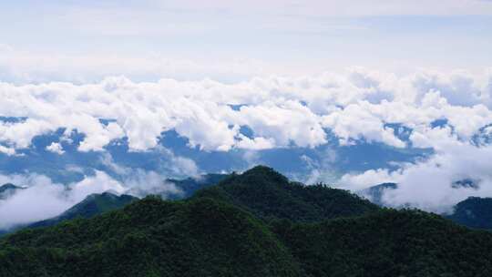
<instances>
[{"instance_id":1,"label":"entire sky with all its clouds and blue haze above the mountains","mask_svg":"<svg viewBox=\"0 0 492 277\"><path fill-rule=\"evenodd\" d=\"M492 1L2 1L0 33L0 229L257 164L492 197Z\"/></svg>"}]
</instances>

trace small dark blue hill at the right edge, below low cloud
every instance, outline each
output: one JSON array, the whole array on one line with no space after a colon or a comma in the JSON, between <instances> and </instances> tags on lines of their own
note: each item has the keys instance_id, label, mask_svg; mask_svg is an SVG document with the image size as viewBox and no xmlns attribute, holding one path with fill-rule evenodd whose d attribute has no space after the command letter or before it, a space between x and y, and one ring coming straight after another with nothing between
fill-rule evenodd
<instances>
[{"instance_id":1,"label":"small dark blue hill at the right edge, below low cloud","mask_svg":"<svg viewBox=\"0 0 492 277\"><path fill-rule=\"evenodd\" d=\"M448 219L470 228L492 231L492 198L470 197L456 204Z\"/></svg>"}]
</instances>

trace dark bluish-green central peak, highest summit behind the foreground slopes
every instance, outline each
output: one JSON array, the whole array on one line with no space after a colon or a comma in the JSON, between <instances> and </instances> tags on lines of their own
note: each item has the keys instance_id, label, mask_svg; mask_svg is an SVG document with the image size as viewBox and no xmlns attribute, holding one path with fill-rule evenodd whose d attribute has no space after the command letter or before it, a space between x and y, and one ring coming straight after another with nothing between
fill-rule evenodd
<instances>
[{"instance_id":1,"label":"dark bluish-green central peak, highest summit behind the foreground slopes","mask_svg":"<svg viewBox=\"0 0 492 277\"><path fill-rule=\"evenodd\" d=\"M263 219L292 221L321 221L379 209L349 191L321 184L305 186L263 166L231 174L217 186L198 191L195 197L230 202Z\"/></svg>"}]
</instances>

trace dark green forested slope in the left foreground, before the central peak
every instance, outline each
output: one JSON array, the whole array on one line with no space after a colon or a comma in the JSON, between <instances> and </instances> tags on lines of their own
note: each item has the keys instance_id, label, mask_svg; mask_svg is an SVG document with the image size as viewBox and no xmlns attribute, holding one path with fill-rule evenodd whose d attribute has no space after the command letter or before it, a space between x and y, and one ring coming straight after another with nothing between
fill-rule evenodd
<instances>
[{"instance_id":1,"label":"dark green forested slope in the left foreground, before the central peak","mask_svg":"<svg viewBox=\"0 0 492 277\"><path fill-rule=\"evenodd\" d=\"M302 276L264 223L216 200L146 198L0 241L0 276Z\"/></svg>"}]
</instances>

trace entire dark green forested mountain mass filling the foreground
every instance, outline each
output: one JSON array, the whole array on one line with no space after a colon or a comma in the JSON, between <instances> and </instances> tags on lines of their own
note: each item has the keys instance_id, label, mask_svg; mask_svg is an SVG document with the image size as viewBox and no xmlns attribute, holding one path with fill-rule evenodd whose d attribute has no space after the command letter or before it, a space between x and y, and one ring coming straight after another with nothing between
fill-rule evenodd
<instances>
[{"instance_id":1,"label":"entire dark green forested mountain mass filling the foreground","mask_svg":"<svg viewBox=\"0 0 492 277\"><path fill-rule=\"evenodd\" d=\"M352 207L354 206L354 207ZM0 276L491 276L492 233L272 169L0 241Z\"/></svg>"}]
</instances>

